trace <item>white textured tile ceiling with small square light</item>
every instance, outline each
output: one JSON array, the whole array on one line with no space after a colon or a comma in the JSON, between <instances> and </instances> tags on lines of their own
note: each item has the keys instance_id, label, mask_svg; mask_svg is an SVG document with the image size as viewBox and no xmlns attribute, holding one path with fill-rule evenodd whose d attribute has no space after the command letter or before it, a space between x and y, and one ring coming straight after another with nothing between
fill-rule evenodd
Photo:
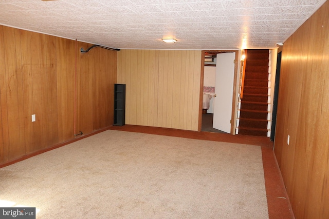
<instances>
[{"instance_id":1,"label":"white textured tile ceiling with small square light","mask_svg":"<svg viewBox=\"0 0 329 219\"><path fill-rule=\"evenodd\" d=\"M120 49L273 48L324 2L0 0L0 24Z\"/></svg>"}]
</instances>

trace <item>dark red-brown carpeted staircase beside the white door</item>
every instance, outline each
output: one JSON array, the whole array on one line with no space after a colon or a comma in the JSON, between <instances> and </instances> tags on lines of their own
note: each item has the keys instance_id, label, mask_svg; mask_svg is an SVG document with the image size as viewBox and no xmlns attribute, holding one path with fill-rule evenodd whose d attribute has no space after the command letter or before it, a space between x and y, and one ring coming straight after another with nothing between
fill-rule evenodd
<instances>
[{"instance_id":1,"label":"dark red-brown carpeted staircase beside the white door","mask_svg":"<svg viewBox=\"0 0 329 219\"><path fill-rule=\"evenodd\" d=\"M268 62L268 49L247 51L239 134L267 136Z\"/></svg>"}]
</instances>

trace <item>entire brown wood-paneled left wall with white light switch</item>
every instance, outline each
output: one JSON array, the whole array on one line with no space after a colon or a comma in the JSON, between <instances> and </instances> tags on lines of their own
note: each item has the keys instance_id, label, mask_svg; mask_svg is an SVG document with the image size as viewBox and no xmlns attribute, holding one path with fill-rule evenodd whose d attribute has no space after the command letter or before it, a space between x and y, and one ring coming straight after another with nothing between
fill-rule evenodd
<instances>
[{"instance_id":1,"label":"entire brown wood-paneled left wall with white light switch","mask_svg":"<svg viewBox=\"0 0 329 219\"><path fill-rule=\"evenodd\" d=\"M117 52L89 46L0 26L0 164L113 124Z\"/></svg>"}]
</instances>

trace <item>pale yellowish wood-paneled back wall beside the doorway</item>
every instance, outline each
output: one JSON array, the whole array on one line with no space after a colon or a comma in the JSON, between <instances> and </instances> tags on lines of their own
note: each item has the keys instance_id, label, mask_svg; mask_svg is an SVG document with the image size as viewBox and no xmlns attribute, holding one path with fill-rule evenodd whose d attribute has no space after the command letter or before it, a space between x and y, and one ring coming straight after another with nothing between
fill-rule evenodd
<instances>
[{"instance_id":1,"label":"pale yellowish wood-paneled back wall beside the doorway","mask_svg":"<svg viewBox=\"0 0 329 219\"><path fill-rule=\"evenodd\" d=\"M198 130L202 51L121 50L125 123Z\"/></svg>"}]
</instances>

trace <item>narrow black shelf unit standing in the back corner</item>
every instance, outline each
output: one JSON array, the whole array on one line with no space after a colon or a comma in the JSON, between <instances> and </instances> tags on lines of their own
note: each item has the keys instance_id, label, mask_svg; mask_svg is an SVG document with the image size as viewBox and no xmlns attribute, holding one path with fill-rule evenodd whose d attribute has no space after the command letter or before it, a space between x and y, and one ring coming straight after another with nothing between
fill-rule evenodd
<instances>
[{"instance_id":1,"label":"narrow black shelf unit standing in the back corner","mask_svg":"<svg viewBox=\"0 0 329 219\"><path fill-rule=\"evenodd\" d=\"M125 85L114 85L114 126L124 125Z\"/></svg>"}]
</instances>

